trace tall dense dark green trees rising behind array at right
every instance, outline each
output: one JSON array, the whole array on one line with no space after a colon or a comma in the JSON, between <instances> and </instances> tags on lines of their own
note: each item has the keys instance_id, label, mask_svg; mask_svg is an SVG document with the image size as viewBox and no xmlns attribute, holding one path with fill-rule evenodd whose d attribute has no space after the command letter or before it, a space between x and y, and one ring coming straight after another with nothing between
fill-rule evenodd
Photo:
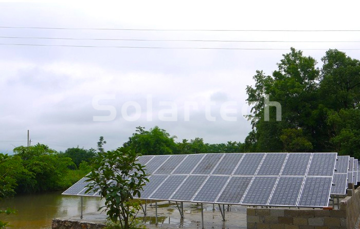
<instances>
[{"instance_id":1,"label":"tall dense dark green trees rising behind array at right","mask_svg":"<svg viewBox=\"0 0 360 229\"><path fill-rule=\"evenodd\" d=\"M360 156L360 62L329 50L316 60L292 49L272 75L257 71L247 87L248 102L256 102L250 117L250 151L337 151ZM282 106L282 120L264 119L264 97Z\"/></svg>"}]
</instances>

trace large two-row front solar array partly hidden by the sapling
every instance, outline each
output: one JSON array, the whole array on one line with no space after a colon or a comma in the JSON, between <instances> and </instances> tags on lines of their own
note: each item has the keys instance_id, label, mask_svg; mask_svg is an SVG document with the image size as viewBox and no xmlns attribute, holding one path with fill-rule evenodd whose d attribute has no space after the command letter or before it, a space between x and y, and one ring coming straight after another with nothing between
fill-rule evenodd
<instances>
[{"instance_id":1,"label":"large two-row front solar array partly hidden by the sapling","mask_svg":"<svg viewBox=\"0 0 360 229\"><path fill-rule=\"evenodd\" d=\"M336 158L336 152L140 156L151 174L140 199L327 207ZM99 196L84 193L85 180L63 194Z\"/></svg>"}]
</instances>

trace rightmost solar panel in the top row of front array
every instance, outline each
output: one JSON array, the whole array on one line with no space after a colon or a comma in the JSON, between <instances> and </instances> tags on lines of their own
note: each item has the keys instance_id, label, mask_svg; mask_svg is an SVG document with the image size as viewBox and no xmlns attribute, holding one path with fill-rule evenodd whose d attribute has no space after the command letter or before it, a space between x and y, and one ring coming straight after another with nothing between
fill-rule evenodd
<instances>
[{"instance_id":1,"label":"rightmost solar panel in the top row of front array","mask_svg":"<svg viewBox=\"0 0 360 229\"><path fill-rule=\"evenodd\" d=\"M333 176L336 162L334 153L314 153L307 176Z\"/></svg>"}]
</instances>

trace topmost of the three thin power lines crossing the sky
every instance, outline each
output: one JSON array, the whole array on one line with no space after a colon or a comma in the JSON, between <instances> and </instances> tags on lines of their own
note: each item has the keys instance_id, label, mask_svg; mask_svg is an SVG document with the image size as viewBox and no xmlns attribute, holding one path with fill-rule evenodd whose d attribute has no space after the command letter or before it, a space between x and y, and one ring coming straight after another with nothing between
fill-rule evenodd
<instances>
[{"instance_id":1,"label":"topmost of the three thin power lines crossing the sky","mask_svg":"<svg viewBox=\"0 0 360 229\"><path fill-rule=\"evenodd\" d=\"M3 29L62 29L62 30L123 30L123 31L219 31L219 32L360 32L355 29L118 29L118 28L68 28L0 26Z\"/></svg>"}]
</instances>

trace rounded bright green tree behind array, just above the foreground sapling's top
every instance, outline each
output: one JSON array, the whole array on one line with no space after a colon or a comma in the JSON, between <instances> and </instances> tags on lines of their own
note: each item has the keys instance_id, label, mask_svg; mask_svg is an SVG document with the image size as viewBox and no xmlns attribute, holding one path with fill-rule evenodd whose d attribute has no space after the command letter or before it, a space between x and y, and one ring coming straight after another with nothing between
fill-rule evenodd
<instances>
[{"instance_id":1,"label":"rounded bright green tree behind array, just above the foreground sapling's top","mask_svg":"<svg viewBox=\"0 0 360 229\"><path fill-rule=\"evenodd\" d=\"M135 133L129 138L124 147L130 147L141 155L168 155L176 151L176 136L170 136L165 129L158 126L149 131L145 127L136 127Z\"/></svg>"}]
</instances>

